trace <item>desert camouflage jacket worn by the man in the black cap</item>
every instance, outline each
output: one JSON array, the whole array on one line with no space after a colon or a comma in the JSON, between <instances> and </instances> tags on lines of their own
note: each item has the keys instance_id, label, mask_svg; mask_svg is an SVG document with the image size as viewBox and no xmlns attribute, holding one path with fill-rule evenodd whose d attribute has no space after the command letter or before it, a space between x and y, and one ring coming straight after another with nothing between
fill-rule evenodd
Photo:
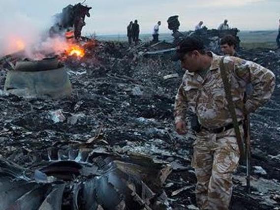
<instances>
[{"instance_id":1,"label":"desert camouflage jacket worn by the man in the black cap","mask_svg":"<svg viewBox=\"0 0 280 210\"><path fill-rule=\"evenodd\" d=\"M221 56L212 54L213 61L204 79L197 73L186 71L175 100L175 123L186 119L187 110L196 113L202 126L214 129L232 123L220 75ZM229 72L229 82L238 120L244 113L255 111L268 101L275 88L275 75L254 62L236 57L226 57L224 64ZM252 94L244 103L247 84Z\"/></svg>"}]
</instances>

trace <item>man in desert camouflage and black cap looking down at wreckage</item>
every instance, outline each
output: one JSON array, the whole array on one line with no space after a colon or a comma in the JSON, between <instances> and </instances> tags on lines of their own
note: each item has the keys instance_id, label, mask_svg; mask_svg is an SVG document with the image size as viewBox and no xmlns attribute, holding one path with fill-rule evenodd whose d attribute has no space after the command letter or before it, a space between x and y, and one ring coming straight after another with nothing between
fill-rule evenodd
<instances>
[{"instance_id":1,"label":"man in desert camouflage and black cap looking down at wreckage","mask_svg":"<svg viewBox=\"0 0 280 210\"><path fill-rule=\"evenodd\" d=\"M192 166L195 169L197 205L202 210L228 210L232 195L232 174L237 169L240 152L232 118L228 111L220 75L222 57L204 50L203 43L187 38L177 48L174 59L187 69L175 101L176 131L187 133L186 112L197 115L201 130L196 132ZM268 101L275 88L275 75L248 60L225 57L236 115L243 134L244 115ZM251 97L244 103L248 83Z\"/></svg>"}]
</instances>

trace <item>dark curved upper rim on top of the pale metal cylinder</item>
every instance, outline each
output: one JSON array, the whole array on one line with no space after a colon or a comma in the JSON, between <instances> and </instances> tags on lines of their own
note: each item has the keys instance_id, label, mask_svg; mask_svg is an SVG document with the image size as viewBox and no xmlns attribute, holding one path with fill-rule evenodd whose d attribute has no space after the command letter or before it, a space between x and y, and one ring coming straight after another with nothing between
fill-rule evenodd
<instances>
[{"instance_id":1,"label":"dark curved upper rim on top of the pale metal cylinder","mask_svg":"<svg viewBox=\"0 0 280 210\"><path fill-rule=\"evenodd\" d=\"M57 69L59 61L57 58L35 60L35 61L18 61L15 71L46 71Z\"/></svg>"}]
</instances>

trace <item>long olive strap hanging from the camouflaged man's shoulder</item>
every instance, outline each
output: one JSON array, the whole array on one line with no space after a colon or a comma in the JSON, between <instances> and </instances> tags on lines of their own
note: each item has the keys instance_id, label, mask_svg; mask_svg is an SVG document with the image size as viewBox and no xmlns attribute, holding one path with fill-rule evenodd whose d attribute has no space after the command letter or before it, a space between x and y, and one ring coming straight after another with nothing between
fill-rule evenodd
<instances>
[{"instance_id":1,"label":"long olive strap hanging from the camouflaged man's shoulder","mask_svg":"<svg viewBox=\"0 0 280 210\"><path fill-rule=\"evenodd\" d=\"M222 57L222 59L220 60L220 64L219 64L220 74L221 74L221 78L222 78L222 82L223 82L223 86L224 86L225 97L226 97L227 104L228 104L228 111L230 112L234 131L236 134L236 139L237 139L237 144L238 144L238 148L240 151L241 160L245 160L244 143L243 143L241 133L239 130L239 125L238 125L237 116L236 116L236 112L235 112L235 105L233 103L232 95L231 95L231 84L229 83L230 74L228 72L229 69L227 69L226 65L224 64L224 58L225 57Z\"/></svg>"}]
</instances>

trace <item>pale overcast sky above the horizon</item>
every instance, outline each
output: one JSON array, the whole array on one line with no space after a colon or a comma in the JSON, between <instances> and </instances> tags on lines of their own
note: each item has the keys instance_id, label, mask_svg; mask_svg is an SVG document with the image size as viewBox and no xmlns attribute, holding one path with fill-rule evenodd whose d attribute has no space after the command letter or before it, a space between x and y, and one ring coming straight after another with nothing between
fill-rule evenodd
<instances>
[{"instance_id":1,"label":"pale overcast sky above the horizon","mask_svg":"<svg viewBox=\"0 0 280 210\"><path fill-rule=\"evenodd\" d=\"M51 16L76 0L0 0L1 30L11 26L46 28ZM92 6L84 33L124 34L130 20L137 19L141 32L149 33L158 20L168 32L166 20L179 15L180 30L193 30L203 20L217 28L226 18L241 30L277 30L280 0L87 0ZM4 22L4 23L3 23Z\"/></svg>"}]
</instances>

